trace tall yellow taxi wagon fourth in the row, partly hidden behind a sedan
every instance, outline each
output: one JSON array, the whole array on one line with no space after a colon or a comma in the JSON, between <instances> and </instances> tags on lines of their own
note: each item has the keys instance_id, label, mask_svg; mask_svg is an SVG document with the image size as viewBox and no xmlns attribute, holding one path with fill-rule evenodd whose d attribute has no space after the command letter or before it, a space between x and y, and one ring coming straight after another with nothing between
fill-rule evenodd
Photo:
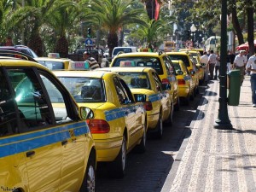
<instances>
[{"instance_id":1,"label":"tall yellow taxi wagon fourth in the row, partly hidden behind a sedan","mask_svg":"<svg viewBox=\"0 0 256 192\"><path fill-rule=\"evenodd\" d=\"M134 52L117 55L110 64L110 67L152 67L159 75L162 84L166 85L166 90L172 96L172 104L175 110L179 110L180 102L178 97L178 87L176 72L172 61L163 52Z\"/></svg>"}]
</instances>

